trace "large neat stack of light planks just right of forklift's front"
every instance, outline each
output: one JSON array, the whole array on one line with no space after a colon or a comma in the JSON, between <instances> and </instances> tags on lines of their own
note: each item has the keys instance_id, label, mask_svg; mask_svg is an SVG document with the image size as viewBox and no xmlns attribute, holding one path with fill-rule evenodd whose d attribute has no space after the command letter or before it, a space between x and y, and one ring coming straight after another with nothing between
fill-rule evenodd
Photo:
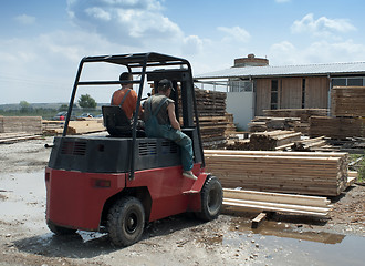
<instances>
[{"instance_id":1,"label":"large neat stack of light planks just right of forklift's front","mask_svg":"<svg viewBox=\"0 0 365 266\"><path fill-rule=\"evenodd\" d=\"M223 187L337 196L347 187L347 153L205 150Z\"/></svg>"}]
</instances>

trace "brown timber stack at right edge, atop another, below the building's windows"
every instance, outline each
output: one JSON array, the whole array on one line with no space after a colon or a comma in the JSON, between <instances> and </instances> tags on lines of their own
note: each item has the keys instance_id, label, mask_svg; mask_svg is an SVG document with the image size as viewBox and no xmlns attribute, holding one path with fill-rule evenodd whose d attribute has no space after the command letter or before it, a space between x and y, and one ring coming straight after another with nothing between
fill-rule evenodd
<instances>
[{"instance_id":1,"label":"brown timber stack at right edge, atop another, below the building's windows","mask_svg":"<svg viewBox=\"0 0 365 266\"><path fill-rule=\"evenodd\" d=\"M334 86L331 113L334 116L365 117L365 86Z\"/></svg>"}]
</instances>

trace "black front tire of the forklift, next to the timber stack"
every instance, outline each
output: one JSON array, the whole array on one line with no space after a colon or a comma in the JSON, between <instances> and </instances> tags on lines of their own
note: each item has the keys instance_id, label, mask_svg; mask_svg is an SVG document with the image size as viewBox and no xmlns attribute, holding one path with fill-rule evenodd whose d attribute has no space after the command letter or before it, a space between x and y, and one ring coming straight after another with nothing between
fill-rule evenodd
<instances>
[{"instance_id":1,"label":"black front tire of the forklift, next to the timber stack","mask_svg":"<svg viewBox=\"0 0 365 266\"><path fill-rule=\"evenodd\" d=\"M197 216L202 221L218 217L223 201L222 185L216 176L208 176L200 192L201 211Z\"/></svg>"}]
</instances>

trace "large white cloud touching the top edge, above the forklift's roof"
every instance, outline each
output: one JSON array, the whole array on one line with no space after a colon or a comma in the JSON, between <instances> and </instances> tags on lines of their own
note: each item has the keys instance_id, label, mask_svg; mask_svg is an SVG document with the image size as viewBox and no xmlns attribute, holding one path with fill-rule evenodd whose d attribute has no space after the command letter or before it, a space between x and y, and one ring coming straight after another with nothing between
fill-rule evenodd
<instances>
[{"instance_id":1,"label":"large white cloud touching the top edge, above the forklift's roof","mask_svg":"<svg viewBox=\"0 0 365 266\"><path fill-rule=\"evenodd\" d=\"M184 38L157 0L69 0L67 10L75 24L115 43L144 47Z\"/></svg>"}]
</instances>

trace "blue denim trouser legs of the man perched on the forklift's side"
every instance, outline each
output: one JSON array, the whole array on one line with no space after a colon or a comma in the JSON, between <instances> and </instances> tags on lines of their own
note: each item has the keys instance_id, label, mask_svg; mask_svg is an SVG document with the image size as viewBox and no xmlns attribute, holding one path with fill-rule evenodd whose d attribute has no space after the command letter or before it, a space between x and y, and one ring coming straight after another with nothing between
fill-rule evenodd
<instances>
[{"instance_id":1,"label":"blue denim trouser legs of the man perched on the forklift's side","mask_svg":"<svg viewBox=\"0 0 365 266\"><path fill-rule=\"evenodd\" d=\"M165 137L174 141L180 146L181 164L184 171L192 168L192 142L191 139L179 130L175 130L171 125L160 125L157 119L150 117L146 122L146 135L148 137Z\"/></svg>"}]
</instances>

